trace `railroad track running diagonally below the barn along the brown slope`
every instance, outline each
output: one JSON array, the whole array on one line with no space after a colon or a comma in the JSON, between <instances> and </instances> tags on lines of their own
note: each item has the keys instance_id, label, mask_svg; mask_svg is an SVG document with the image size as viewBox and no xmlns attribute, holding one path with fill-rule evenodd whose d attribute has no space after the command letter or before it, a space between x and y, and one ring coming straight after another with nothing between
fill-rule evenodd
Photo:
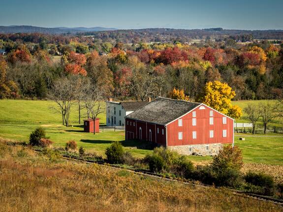
<instances>
[{"instance_id":1,"label":"railroad track running diagonally below the barn along the brown slope","mask_svg":"<svg viewBox=\"0 0 283 212\"><path fill-rule=\"evenodd\" d=\"M112 167L112 168L115 168L115 169L124 169L124 170L126 169L127 171L138 174L138 175L153 177L153 178L157 178L157 179L163 180L163 181L165 180L165 181L172 181L172 182L181 182L181 183L184 183L184 184L193 184L193 185L201 186L201 187L205 187L205 188L212 187L212 185L207 185L207 184L203 184L203 183L195 183L195 182L191 182L191 181L181 181L179 179L172 179L172 178L169 178L167 176L159 175L159 174L148 172L148 171L145 171L145 170L136 170L136 169L131 169L131 168L124 168L124 167L120 167L120 166L113 165L113 164L107 164L107 163L100 162L100 161L93 161L93 160L84 159L84 158L75 157L75 156L70 156L70 155L65 155L65 154L61 154L61 156L64 159L68 159L68 160L75 160L75 161L80 161L80 162L85 162L85 163L96 163L96 164L99 164L99 165ZM252 199L265 201L265 202L272 202L274 204L283 206L283 200L280 200L280 199L275 199L275 198L272 198L270 196L262 196L262 195L253 194L253 193L235 190L235 189L230 189L230 188L227 188L227 189L232 191L232 193L237 195L237 196L243 196L243 197L252 198Z\"/></svg>"}]
</instances>

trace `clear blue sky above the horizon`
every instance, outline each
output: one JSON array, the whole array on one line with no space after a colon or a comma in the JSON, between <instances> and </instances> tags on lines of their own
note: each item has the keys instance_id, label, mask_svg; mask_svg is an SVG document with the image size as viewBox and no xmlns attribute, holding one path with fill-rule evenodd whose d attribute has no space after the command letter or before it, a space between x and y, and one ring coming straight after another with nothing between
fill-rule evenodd
<instances>
[{"instance_id":1,"label":"clear blue sky above the horizon","mask_svg":"<svg viewBox=\"0 0 283 212\"><path fill-rule=\"evenodd\" d=\"M283 30L283 0L0 0L0 26Z\"/></svg>"}]
</instances>

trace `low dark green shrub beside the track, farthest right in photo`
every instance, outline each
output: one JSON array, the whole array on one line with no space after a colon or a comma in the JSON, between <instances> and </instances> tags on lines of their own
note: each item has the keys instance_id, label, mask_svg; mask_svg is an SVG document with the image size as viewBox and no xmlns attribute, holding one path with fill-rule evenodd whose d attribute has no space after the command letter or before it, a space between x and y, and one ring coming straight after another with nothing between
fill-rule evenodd
<instances>
[{"instance_id":1,"label":"low dark green shrub beside the track, farthest right in photo","mask_svg":"<svg viewBox=\"0 0 283 212\"><path fill-rule=\"evenodd\" d=\"M261 187L272 188L274 187L274 180L272 176L263 173L248 172L245 176L246 182Z\"/></svg>"}]
</instances>

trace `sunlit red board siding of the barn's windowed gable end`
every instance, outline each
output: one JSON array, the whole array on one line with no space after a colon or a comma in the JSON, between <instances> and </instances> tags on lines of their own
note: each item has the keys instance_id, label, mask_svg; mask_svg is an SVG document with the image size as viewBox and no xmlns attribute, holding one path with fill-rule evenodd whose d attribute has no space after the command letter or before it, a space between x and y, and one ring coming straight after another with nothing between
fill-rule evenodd
<instances>
[{"instance_id":1,"label":"sunlit red board siding of the barn's windowed gable end","mask_svg":"<svg viewBox=\"0 0 283 212\"><path fill-rule=\"evenodd\" d=\"M178 126L178 120L167 125L167 145L195 145L195 144L216 144L216 143L232 143L233 142L233 120L227 117L227 123L222 123L223 115L217 111L213 111L214 124L209 124L210 108L204 106L205 109L196 108L196 126L192 126L192 111L183 116L183 126ZM222 137L222 130L227 130L227 137ZM214 130L214 138L209 137L209 131ZM192 132L196 131L196 139L192 139ZM183 132L183 139L179 140L178 133Z\"/></svg>"}]
</instances>

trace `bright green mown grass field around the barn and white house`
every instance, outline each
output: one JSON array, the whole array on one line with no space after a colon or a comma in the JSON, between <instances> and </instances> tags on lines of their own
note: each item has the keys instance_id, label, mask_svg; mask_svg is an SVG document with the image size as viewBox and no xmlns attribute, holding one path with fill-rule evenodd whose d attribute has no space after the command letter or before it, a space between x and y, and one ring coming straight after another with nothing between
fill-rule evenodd
<instances>
[{"instance_id":1,"label":"bright green mown grass field around the barn and white house","mask_svg":"<svg viewBox=\"0 0 283 212\"><path fill-rule=\"evenodd\" d=\"M235 102L239 106L250 103L251 101ZM0 137L28 141L31 131L42 126L55 147L63 147L67 141L75 140L79 147L83 146L89 152L104 155L105 149L112 141L121 141L136 157L143 157L152 151L141 149L144 145L142 142L125 142L124 132L121 131L100 132L95 135L83 132L83 125L78 124L77 108L72 109L71 126L67 128L62 125L61 115L50 109L52 105L54 104L51 101L0 100ZM105 114L101 114L99 118L100 124L105 124ZM235 144L243 150L245 162L283 165L283 135L241 136L246 137L246 141L239 141L236 135ZM189 156L189 158L193 161L211 160L209 156Z\"/></svg>"}]
</instances>

